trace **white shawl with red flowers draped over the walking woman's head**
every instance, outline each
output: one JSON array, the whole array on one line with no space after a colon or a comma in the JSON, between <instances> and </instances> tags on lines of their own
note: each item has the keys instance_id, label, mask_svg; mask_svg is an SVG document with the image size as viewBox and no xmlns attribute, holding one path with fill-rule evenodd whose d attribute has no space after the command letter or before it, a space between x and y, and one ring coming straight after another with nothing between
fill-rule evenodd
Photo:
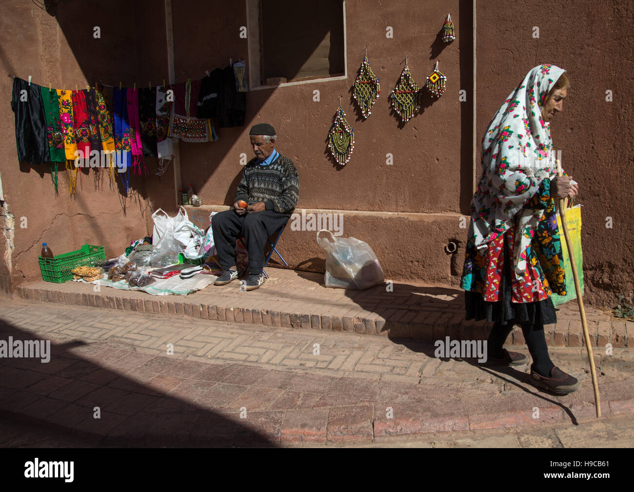
<instances>
[{"instance_id":1,"label":"white shawl with red flowers draped over the walking woman's head","mask_svg":"<svg viewBox=\"0 0 634 492\"><path fill-rule=\"evenodd\" d=\"M565 72L555 65L534 67L515 87L482 137L482 176L471 203L469 240L479 250L502 235L520 214L515 234L515 271L526 269L526 250L543 210L524 205L553 178L550 127L541 108L555 82Z\"/></svg>"}]
</instances>

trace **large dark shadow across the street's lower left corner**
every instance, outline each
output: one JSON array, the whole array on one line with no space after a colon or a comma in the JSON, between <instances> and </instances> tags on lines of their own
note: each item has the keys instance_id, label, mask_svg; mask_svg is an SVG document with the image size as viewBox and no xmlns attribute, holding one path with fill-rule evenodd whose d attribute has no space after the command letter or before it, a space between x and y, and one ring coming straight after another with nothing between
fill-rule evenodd
<instances>
[{"instance_id":1,"label":"large dark shadow across the street's lower left corner","mask_svg":"<svg viewBox=\"0 0 634 492\"><path fill-rule=\"evenodd\" d=\"M0 332L3 340L36 340L6 321L0 321ZM0 411L11 421L35 424L49 437L53 433L53 438L65 438L70 432L87 446L276 445L273 435L264 436L238 420L176 398L174 391L168 396L167 390L138 382L151 375L155 386L160 385L160 373L172 364L167 356L151 358L135 373L134 369L128 372L130 358L117 365L112 361L116 351L98 344L51 344L50 352L48 363L39 358L0 359L4 375ZM104 361L108 367L78 354ZM133 354L139 357L143 355ZM200 379L190 379L195 389L190 389L188 398L193 399L196 389L212 387L226 376L226 366L205 366L197 374ZM219 405L218 401L209 398L210 405ZM100 418L94 418L96 406Z\"/></svg>"}]
</instances>

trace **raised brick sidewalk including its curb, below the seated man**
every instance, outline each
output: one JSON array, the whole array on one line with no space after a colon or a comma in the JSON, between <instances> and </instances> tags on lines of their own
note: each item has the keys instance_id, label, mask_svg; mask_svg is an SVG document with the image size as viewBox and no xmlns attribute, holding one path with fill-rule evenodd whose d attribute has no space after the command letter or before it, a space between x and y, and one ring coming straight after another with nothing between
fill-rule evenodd
<instances>
[{"instance_id":1,"label":"raised brick sidewalk including its curb, below the seated man","mask_svg":"<svg viewBox=\"0 0 634 492\"><path fill-rule=\"evenodd\" d=\"M77 282L24 283L16 293L24 299L60 302L78 306L112 308L137 313L159 313L209 320L255 323L273 327L311 328L327 332L410 337L424 342L444 339L480 339L488 323L464 320L462 290L394 282L364 291L323 287L323 275L268 268L271 276L251 292L240 292L237 282L224 287L209 286L187 297L157 296L145 292ZM627 347L634 323L611 319L586 306L592 345L605 349ZM136 335L143 337L143 335ZM583 347L583 330L576 301L560 306L557 323L546 327L551 347ZM524 344L516 327L512 343ZM248 356L247 356L248 358Z\"/></svg>"}]
</instances>

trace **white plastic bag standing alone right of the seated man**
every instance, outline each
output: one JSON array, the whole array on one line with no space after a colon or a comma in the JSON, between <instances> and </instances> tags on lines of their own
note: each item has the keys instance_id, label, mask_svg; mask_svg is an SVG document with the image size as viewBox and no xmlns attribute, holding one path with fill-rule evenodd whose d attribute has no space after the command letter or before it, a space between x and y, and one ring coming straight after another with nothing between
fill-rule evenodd
<instances>
[{"instance_id":1,"label":"white plastic bag standing alone right of the seated man","mask_svg":"<svg viewBox=\"0 0 634 492\"><path fill-rule=\"evenodd\" d=\"M317 233L317 243L326 250L326 287L363 290L384 282L383 269L368 243L336 237L326 229Z\"/></svg>"}]
</instances>

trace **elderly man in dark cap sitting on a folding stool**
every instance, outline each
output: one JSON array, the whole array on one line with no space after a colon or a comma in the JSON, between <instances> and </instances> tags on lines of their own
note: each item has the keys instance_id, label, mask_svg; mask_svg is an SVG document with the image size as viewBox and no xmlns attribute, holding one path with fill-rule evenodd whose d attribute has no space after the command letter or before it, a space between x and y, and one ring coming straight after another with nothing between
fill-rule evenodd
<instances>
[{"instance_id":1,"label":"elderly man in dark cap sitting on a folding stool","mask_svg":"<svg viewBox=\"0 0 634 492\"><path fill-rule=\"evenodd\" d=\"M277 136L271 125L259 123L249 134L256 157L244 168L233 208L214 215L211 226L224 270L214 285L226 285L238 278L235 244L243 237L249 252L245 289L254 290L265 279L262 268L266 240L287 223L297 205L299 178L292 160L275 150Z\"/></svg>"}]
</instances>

